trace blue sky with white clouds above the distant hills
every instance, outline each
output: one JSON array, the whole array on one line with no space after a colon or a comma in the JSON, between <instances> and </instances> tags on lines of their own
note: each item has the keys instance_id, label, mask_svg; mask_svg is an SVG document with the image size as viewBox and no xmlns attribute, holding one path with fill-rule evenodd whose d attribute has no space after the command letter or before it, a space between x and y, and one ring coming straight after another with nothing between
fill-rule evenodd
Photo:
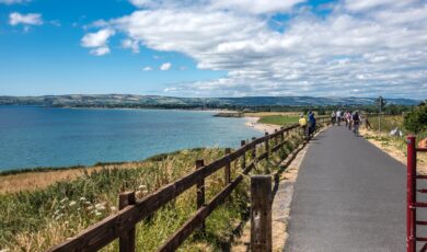
<instances>
[{"instance_id":1,"label":"blue sky with white clouds above the distant hills","mask_svg":"<svg viewBox=\"0 0 427 252\"><path fill-rule=\"evenodd\" d=\"M427 0L0 0L0 95L427 98Z\"/></svg>"}]
</instances>

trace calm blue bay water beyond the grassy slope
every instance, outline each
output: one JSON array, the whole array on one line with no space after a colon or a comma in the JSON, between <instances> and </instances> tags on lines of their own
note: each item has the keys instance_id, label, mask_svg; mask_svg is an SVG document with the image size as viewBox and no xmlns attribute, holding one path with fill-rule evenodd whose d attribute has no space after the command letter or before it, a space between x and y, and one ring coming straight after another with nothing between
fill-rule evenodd
<instances>
[{"instance_id":1,"label":"calm blue bay water beyond the grassy slope","mask_svg":"<svg viewBox=\"0 0 427 252\"><path fill-rule=\"evenodd\" d=\"M0 106L0 171L141 160L261 136L212 112Z\"/></svg>"}]
</instances>

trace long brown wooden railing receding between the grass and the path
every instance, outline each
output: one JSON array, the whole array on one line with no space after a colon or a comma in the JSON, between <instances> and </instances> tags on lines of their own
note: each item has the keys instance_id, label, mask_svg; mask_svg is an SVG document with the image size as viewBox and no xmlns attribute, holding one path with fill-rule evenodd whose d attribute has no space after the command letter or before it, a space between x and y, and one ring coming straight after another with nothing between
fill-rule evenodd
<instances>
[{"instance_id":1,"label":"long brown wooden railing receding between the grass and the path","mask_svg":"<svg viewBox=\"0 0 427 252\"><path fill-rule=\"evenodd\" d=\"M328 117L318 118L318 125L328 123ZM184 177L170 183L157 192L141 198L135 199L135 193L125 193L119 196L119 211L100 222L83 230L78 236L68 239L49 251L96 251L115 239L119 239L119 251L135 251L135 227L145 218L152 215L159 208L173 201L192 186L197 186L197 211L178 230L176 230L158 251L176 250L193 231L204 231L206 218L233 192L243 181L243 177L251 172L257 162L267 159L269 153L278 151L286 144L285 135L291 130L301 130L298 124L281 127L274 134L252 141L242 141L240 149L231 152L226 149L226 156L209 164L201 160L196 162L196 170ZM270 147L270 145L273 145ZM264 152L256 157L256 149L264 146ZM246 163L246 152L250 151L251 162ZM241 159L242 172L233 180L230 180L230 163ZM205 203L205 179L218 170L224 168L226 187L218 193L209 203Z\"/></svg>"}]
</instances>

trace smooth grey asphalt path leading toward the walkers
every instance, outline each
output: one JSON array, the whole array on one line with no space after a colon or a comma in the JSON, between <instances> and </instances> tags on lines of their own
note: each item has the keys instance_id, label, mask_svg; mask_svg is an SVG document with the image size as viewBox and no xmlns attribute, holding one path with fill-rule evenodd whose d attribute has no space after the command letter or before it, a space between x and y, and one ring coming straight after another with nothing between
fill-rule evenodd
<instances>
[{"instance_id":1,"label":"smooth grey asphalt path leading toward the walkers","mask_svg":"<svg viewBox=\"0 0 427 252\"><path fill-rule=\"evenodd\" d=\"M405 251L405 168L333 126L301 164L285 251Z\"/></svg>"}]
</instances>

